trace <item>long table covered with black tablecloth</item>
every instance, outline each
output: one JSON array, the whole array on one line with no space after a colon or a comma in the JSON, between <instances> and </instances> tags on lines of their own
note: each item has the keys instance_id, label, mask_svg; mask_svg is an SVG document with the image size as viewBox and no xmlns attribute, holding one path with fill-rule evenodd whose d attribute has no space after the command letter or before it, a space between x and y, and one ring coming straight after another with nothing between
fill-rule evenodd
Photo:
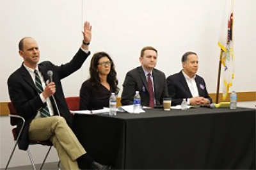
<instances>
[{"instance_id":1,"label":"long table covered with black tablecloth","mask_svg":"<svg viewBox=\"0 0 256 170\"><path fill-rule=\"evenodd\" d=\"M76 114L85 150L116 170L255 169L256 109Z\"/></svg>"}]
</instances>

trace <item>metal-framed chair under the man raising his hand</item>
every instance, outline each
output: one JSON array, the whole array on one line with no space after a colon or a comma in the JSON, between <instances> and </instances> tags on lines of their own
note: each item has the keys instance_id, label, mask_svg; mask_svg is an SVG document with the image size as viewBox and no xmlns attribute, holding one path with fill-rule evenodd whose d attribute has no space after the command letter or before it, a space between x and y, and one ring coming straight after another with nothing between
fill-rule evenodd
<instances>
[{"instance_id":1,"label":"metal-framed chair under the man raising his hand","mask_svg":"<svg viewBox=\"0 0 256 170\"><path fill-rule=\"evenodd\" d=\"M10 118L11 118L10 123L11 123L11 125L13 126L12 134L13 134L13 138L14 138L14 141L15 141L15 145L14 145L14 147L13 147L13 150L12 150L12 153L11 153L11 155L10 155L10 158L9 158L7 164L6 164L5 170L8 168L8 166L9 166L9 164L10 164L10 161L11 161L11 159L12 159L13 153L14 153L15 148L16 148L16 146L17 146L17 141L19 141L20 134L22 133L22 130L23 130L24 124L25 124L24 118L22 118L21 116L19 116L19 115L17 114L15 108L13 107L12 102L9 102L9 103L8 103L8 108L9 108L9 110L10 110L9 116L10 116ZM22 128L21 128L20 132L18 133L18 130L17 130L17 122L18 122L19 119L22 120ZM45 160L46 160L46 158L48 157L49 152L50 152L50 150L51 150L51 148L52 148L52 143L51 143L51 141L49 141L49 140L47 140L47 141L32 141L32 140L30 140L30 141L29 141L29 145L30 145L30 144L42 144L42 145L50 146L50 147L49 147L49 150L47 151L47 153L46 153L46 155L45 155L44 161L42 162L42 165L41 165L41 167L40 167L40 170L42 170L42 167L44 166ZM31 155L31 152L29 151L29 148L28 148L28 150L26 150L26 151L27 151L27 153L28 153L28 157L29 157L29 160L30 160L30 162L31 162L31 165L33 166L33 169L36 170L36 168L35 168L35 163L34 163L34 160L33 160L32 155ZM60 164L60 162L59 162L59 164ZM59 164L58 164L58 168L59 168L59 170L60 170Z\"/></svg>"}]
</instances>

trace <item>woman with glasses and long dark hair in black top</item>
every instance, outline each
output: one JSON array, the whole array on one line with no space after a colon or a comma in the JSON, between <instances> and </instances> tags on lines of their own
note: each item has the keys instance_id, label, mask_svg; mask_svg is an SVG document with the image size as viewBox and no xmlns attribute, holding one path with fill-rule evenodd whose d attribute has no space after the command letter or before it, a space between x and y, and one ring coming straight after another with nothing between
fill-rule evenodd
<instances>
[{"instance_id":1,"label":"woman with glasses and long dark hair in black top","mask_svg":"<svg viewBox=\"0 0 256 170\"><path fill-rule=\"evenodd\" d=\"M109 107L111 93L118 93L118 81L113 60L106 52L93 55L90 64L90 78L80 89L79 110L96 110Z\"/></svg>"}]
</instances>

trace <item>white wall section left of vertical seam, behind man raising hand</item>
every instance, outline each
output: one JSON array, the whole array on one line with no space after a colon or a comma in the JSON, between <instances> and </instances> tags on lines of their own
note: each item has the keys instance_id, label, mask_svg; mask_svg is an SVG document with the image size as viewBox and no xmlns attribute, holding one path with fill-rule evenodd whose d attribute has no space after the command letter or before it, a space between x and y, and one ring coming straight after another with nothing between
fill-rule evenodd
<instances>
[{"instance_id":1,"label":"white wall section left of vertical seam, behind man raising hand","mask_svg":"<svg viewBox=\"0 0 256 170\"><path fill-rule=\"evenodd\" d=\"M9 101L6 81L22 64L19 40L33 36L41 61L51 60L56 65L68 62L82 41L82 0L0 0L0 22L0 101ZM67 95L78 95L81 72L63 81Z\"/></svg>"}]
</instances>

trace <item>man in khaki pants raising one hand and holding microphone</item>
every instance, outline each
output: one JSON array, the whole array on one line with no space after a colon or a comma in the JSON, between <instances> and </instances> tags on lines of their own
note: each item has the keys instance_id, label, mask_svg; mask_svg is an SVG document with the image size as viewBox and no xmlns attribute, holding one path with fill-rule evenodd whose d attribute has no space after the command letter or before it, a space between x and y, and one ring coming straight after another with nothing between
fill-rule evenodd
<instances>
[{"instance_id":1,"label":"man in khaki pants raising one hand and holding microphone","mask_svg":"<svg viewBox=\"0 0 256 170\"><path fill-rule=\"evenodd\" d=\"M95 162L68 127L70 112L61 86L61 79L81 68L90 55L88 45L92 37L91 31L90 23L84 22L84 40L81 48L69 63L61 66L53 65L50 61L38 64L40 51L36 41L31 37L22 38L19 42L19 54L24 62L8 78L10 100L17 113L26 120L18 141L20 150L28 149L29 139L39 141L49 139L66 170L78 170L79 167L111 169L109 166ZM52 81L49 81L51 77L47 75L49 70L53 73ZM19 130L21 125L22 122L17 125Z\"/></svg>"}]
</instances>

